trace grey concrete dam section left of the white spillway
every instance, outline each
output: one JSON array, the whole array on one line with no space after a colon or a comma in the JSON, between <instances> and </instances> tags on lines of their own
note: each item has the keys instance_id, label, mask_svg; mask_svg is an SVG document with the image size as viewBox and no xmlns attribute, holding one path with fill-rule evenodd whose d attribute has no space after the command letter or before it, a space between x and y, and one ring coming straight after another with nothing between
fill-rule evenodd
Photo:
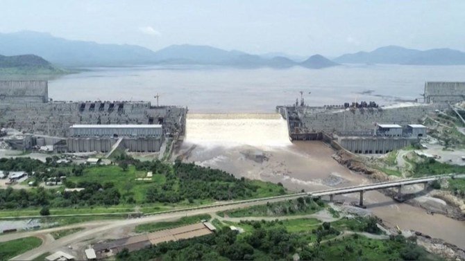
<instances>
[{"instance_id":1,"label":"grey concrete dam section left of the white spillway","mask_svg":"<svg viewBox=\"0 0 465 261\"><path fill-rule=\"evenodd\" d=\"M23 133L6 140L17 149L159 152L167 139L183 139L186 114L144 101L52 102L47 81L0 81L0 128Z\"/></svg>"}]
</instances>

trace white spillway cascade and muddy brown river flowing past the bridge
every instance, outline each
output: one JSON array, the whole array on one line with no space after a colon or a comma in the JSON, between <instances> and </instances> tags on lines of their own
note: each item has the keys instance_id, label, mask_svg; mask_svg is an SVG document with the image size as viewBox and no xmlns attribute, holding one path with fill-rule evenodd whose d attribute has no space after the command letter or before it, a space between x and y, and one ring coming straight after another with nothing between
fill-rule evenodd
<instances>
[{"instance_id":1,"label":"white spillway cascade and muddy brown river flowing past the bridge","mask_svg":"<svg viewBox=\"0 0 465 261\"><path fill-rule=\"evenodd\" d=\"M254 122L250 118L241 123L240 117L232 121L209 120L208 117L188 119L187 137L180 153L195 145L185 161L219 168L236 177L280 182L294 191L372 182L332 159L335 152L325 143L290 143L287 132L282 131L285 129L283 123L285 121L276 119ZM212 125L217 133L212 134ZM357 201L358 197L359 194L355 193L335 199ZM364 204L388 226L420 231L465 249L465 222L439 214L428 215L422 208L398 204L377 191L366 192Z\"/></svg>"}]
</instances>

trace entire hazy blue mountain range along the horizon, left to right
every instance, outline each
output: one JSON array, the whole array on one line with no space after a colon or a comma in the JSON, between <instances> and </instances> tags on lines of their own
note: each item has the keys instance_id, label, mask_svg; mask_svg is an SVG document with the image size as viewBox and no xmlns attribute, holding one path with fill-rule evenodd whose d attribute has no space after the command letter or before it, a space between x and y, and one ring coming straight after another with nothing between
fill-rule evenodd
<instances>
[{"instance_id":1,"label":"entire hazy blue mountain range along the horizon, left to right","mask_svg":"<svg viewBox=\"0 0 465 261\"><path fill-rule=\"evenodd\" d=\"M285 69L303 66L321 69L339 64L465 64L465 53L449 48L426 51L384 46L371 52L348 53L328 60L313 55L307 60L291 59L284 53L252 55L242 51L225 51L212 46L171 45L158 51L129 44L98 44L54 37L49 33L21 31L0 33L1 55L33 53L59 66L130 66L130 65L214 65L237 68L271 67ZM296 62L296 60L303 62Z\"/></svg>"}]
</instances>

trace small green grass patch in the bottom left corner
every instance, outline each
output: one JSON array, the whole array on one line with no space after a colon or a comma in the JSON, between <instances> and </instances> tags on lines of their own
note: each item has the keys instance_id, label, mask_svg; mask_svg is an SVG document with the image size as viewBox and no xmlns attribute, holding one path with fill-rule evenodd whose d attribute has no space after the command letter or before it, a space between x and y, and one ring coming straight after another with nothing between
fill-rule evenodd
<instances>
[{"instance_id":1,"label":"small green grass patch in the bottom left corner","mask_svg":"<svg viewBox=\"0 0 465 261\"><path fill-rule=\"evenodd\" d=\"M0 243L0 261L9 260L42 244L37 237L24 237Z\"/></svg>"}]
</instances>

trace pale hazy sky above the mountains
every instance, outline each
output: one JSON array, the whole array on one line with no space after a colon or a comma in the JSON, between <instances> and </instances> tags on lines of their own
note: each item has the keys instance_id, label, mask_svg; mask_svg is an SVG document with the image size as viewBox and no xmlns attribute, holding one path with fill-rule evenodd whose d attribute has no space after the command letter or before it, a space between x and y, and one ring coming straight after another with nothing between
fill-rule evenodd
<instances>
[{"instance_id":1,"label":"pale hazy sky above the mountains","mask_svg":"<svg viewBox=\"0 0 465 261\"><path fill-rule=\"evenodd\" d=\"M0 32L335 56L386 45L465 51L465 1L0 0Z\"/></svg>"}]
</instances>

